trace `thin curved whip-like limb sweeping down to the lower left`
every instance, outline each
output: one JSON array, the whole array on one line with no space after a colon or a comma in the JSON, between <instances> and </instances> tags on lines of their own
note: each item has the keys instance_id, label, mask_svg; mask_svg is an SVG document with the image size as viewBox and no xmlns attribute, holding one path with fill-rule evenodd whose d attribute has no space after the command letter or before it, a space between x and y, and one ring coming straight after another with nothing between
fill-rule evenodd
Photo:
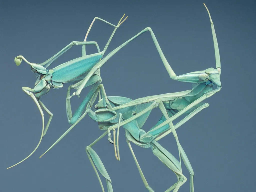
<instances>
[{"instance_id":1,"label":"thin curved whip-like limb sweeping down to the lower left","mask_svg":"<svg viewBox=\"0 0 256 192\"><path fill-rule=\"evenodd\" d=\"M29 91L33 91L33 89L31 89L31 88L29 88L29 87L23 87L22 90L23 90L25 93L27 93L27 94L35 101L35 103L36 103L36 105L37 105L37 107L38 107L38 109L39 109L39 111L40 111L40 114L41 114L41 116L42 116L42 134L41 134L40 140L39 140L39 142L38 142L36 148L34 149L34 151L33 151L32 153L30 153L25 159L23 159L22 161L16 163L15 165L13 165L13 166L11 166L11 167L14 167L14 166L20 164L21 162L25 161L28 157L30 157L30 156L37 150L38 146L40 145L40 143L41 143L41 141L42 141L42 137L43 137L43 135L44 135L44 113L43 113L43 111L42 111L42 109L41 109L41 107L40 107L40 104L38 103L38 101L37 101L35 95L34 95L33 93L29 92ZM11 168L11 167L8 167L7 169L9 169L9 168Z\"/></svg>"}]
</instances>

